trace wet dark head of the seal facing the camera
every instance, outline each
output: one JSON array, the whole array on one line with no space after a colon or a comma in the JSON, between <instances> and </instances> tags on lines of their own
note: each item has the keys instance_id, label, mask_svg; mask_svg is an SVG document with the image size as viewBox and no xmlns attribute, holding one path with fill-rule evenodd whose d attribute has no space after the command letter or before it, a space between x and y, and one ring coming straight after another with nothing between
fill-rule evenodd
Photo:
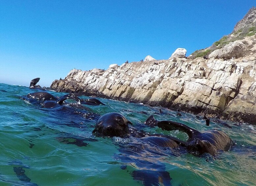
<instances>
[{"instance_id":1,"label":"wet dark head of the seal facing the camera","mask_svg":"<svg viewBox=\"0 0 256 186\"><path fill-rule=\"evenodd\" d=\"M93 133L108 137L117 136L124 138L129 133L128 123L132 124L123 115L111 112L99 118Z\"/></svg>"}]
</instances>

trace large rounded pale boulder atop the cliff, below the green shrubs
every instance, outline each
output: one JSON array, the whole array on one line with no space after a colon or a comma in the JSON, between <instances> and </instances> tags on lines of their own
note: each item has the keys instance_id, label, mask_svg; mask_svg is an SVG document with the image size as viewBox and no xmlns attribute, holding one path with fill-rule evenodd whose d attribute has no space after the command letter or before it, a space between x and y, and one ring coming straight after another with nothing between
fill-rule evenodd
<instances>
[{"instance_id":1,"label":"large rounded pale boulder atop the cliff, below the green shrubs","mask_svg":"<svg viewBox=\"0 0 256 186\"><path fill-rule=\"evenodd\" d=\"M227 58L231 59L233 56L235 58L242 57L245 53L246 46L242 41L234 41L225 45L223 48L214 50L209 54L209 58Z\"/></svg>"}]
</instances>

